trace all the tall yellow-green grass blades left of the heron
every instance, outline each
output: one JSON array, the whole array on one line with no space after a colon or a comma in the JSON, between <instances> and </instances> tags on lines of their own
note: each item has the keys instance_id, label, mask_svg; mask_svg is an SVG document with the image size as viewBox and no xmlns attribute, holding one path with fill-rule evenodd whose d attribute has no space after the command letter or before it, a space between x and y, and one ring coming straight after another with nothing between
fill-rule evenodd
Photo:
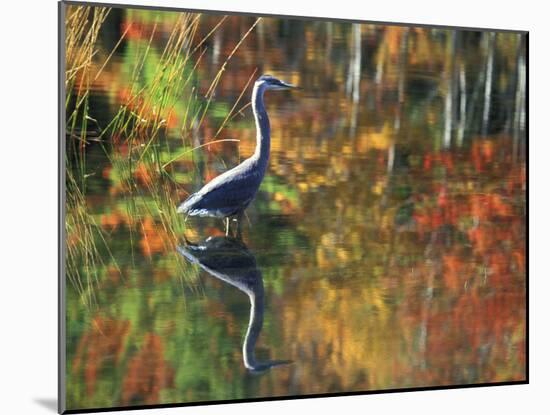
<instances>
[{"instance_id":1,"label":"all the tall yellow-green grass blades left of the heron","mask_svg":"<svg viewBox=\"0 0 550 415\"><path fill-rule=\"evenodd\" d=\"M66 18L66 110L67 110L67 278L86 303L94 299L93 287L100 279L98 269L104 265L105 252L113 258L108 237L98 226L86 204L88 170L86 146L90 142L88 125L89 97L94 81L113 55L98 61L97 40L110 10L103 7L70 7ZM158 19L158 15L156 17ZM185 223L176 213L180 191L176 161L186 157L193 147L193 135L205 119L216 87L227 64L244 39L254 29L251 26L227 59L220 66L204 97L199 96L197 67L205 49L204 42L223 24L225 17L203 38L197 39L201 15L181 13L161 52L153 42L158 20L152 25L148 38L137 42L134 50L126 98L111 121L100 128L94 141L102 146L114 171L124 199L130 245L137 246L137 234L146 235L144 221L154 218L162 230L165 252L175 252L175 245L185 231ZM119 46L129 27L117 43ZM96 69L99 68L99 69ZM248 84L247 84L248 85ZM245 87L246 88L246 87ZM243 91L244 92L244 91ZM239 99L219 127L223 129ZM167 134L170 118L178 112L179 143L174 145ZM226 140L210 140L219 142ZM204 144L203 144L204 145ZM202 145L201 145L202 146ZM198 147L201 147L198 146ZM124 151L121 149L124 148ZM177 149L177 150L176 150ZM184 172L192 174L192 172ZM189 176L186 176L189 178ZM101 252L101 253L100 253ZM132 252L134 257L135 252ZM174 255L176 261L183 261ZM182 269L183 267L182 263ZM117 267L118 270L118 267ZM118 270L120 272L120 270ZM183 279L189 282L184 272Z\"/></svg>"}]
</instances>

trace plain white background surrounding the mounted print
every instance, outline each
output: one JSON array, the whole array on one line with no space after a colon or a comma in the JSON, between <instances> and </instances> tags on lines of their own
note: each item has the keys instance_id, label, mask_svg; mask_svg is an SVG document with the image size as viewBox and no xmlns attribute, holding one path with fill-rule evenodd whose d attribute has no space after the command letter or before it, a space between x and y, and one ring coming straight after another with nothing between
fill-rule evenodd
<instances>
[{"instance_id":1,"label":"plain white background surrounding the mounted print","mask_svg":"<svg viewBox=\"0 0 550 415\"><path fill-rule=\"evenodd\" d=\"M118 1L112 1L118 3ZM120 2L123 3L123 2ZM130 4L326 16L530 31L530 314L531 384L434 392L217 405L149 412L280 414L281 411L408 414L543 413L548 408L550 350L545 272L548 229L546 120L549 25L544 2L135 0ZM1 282L5 413L54 413L57 389L57 4L2 5L0 65ZM544 130L543 130L544 129ZM536 137L536 138L535 138ZM535 150L535 151L534 151ZM546 157L545 157L546 156ZM533 191L533 189L538 189ZM538 207L538 209L535 208ZM539 409L542 408L542 409Z\"/></svg>"}]
</instances>

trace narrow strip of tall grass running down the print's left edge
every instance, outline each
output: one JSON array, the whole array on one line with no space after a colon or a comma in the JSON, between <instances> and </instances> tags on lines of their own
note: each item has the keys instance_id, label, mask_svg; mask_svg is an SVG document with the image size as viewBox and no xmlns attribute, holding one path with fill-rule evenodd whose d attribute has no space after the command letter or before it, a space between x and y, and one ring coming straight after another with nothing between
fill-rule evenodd
<instances>
[{"instance_id":1,"label":"narrow strip of tall grass running down the print's left edge","mask_svg":"<svg viewBox=\"0 0 550 415\"><path fill-rule=\"evenodd\" d=\"M101 263L97 241L104 239L86 207L84 150L95 45L108 14L103 7L71 7L65 21L66 275L87 305L93 304Z\"/></svg>"}]
</instances>

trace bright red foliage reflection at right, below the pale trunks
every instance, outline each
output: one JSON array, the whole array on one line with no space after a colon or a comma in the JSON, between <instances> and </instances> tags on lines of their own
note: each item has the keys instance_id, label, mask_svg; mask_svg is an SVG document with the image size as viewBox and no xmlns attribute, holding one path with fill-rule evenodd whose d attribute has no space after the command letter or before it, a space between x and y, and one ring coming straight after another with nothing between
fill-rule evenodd
<instances>
[{"instance_id":1,"label":"bright red foliage reflection at right, below the pale trunks","mask_svg":"<svg viewBox=\"0 0 550 415\"><path fill-rule=\"evenodd\" d=\"M454 303L428 319L434 333L428 347L467 344L477 351L471 356L477 360L471 363L483 366L482 381L525 375L525 166L497 161L495 154L502 151L502 144L481 141L472 146L471 163L487 176L477 187L451 194L451 186L464 187L451 175L447 186L434 189L433 196L415 211L418 232L430 235L432 260L441 264L442 283L453 293ZM441 162L451 173L453 156L447 154ZM495 186L492 177L501 184ZM460 235L467 238L469 249ZM437 246L438 238L456 242ZM456 328L456 337L449 337L448 327ZM517 360L510 366L512 356ZM498 373L496 367L508 370ZM448 382L452 376L448 374Z\"/></svg>"}]
</instances>

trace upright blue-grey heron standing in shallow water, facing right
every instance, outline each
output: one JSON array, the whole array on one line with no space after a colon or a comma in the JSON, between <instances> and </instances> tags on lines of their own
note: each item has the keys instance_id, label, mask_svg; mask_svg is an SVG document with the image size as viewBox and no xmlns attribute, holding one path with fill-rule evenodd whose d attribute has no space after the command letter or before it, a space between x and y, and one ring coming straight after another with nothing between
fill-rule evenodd
<instances>
[{"instance_id":1,"label":"upright blue-grey heron standing in shallow water, facing right","mask_svg":"<svg viewBox=\"0 0 550 415\"><path fill-rule=\"evenodd\" d=\"M297 87L271 75L262 75L256 80L252 90L252 111L256 120L254 154L190 195L178 207L178 213L225 219L226 236L229 234L229 218L237 216L237 232L240 235L242 215L256 196L269 160L271 133L264 106L264 92L291 88Z\"/></svg>"}]
</instances>

